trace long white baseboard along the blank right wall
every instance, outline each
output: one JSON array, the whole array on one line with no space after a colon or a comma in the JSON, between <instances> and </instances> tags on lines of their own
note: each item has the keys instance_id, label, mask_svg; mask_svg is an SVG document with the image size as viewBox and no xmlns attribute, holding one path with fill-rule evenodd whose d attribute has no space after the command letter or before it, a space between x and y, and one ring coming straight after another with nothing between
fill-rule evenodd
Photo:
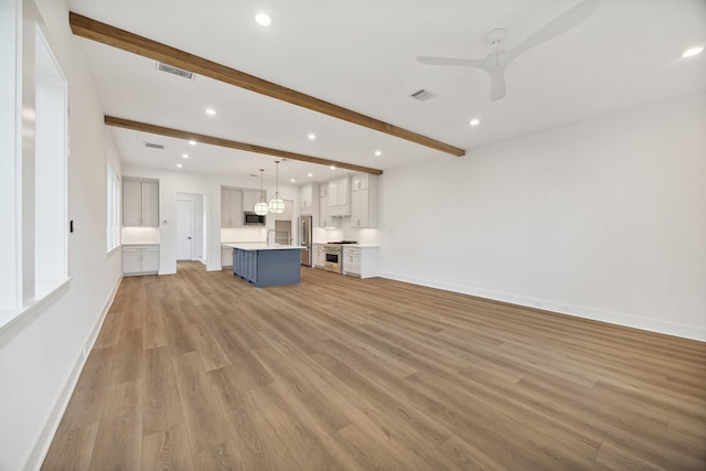
<instances>
[{"instance_id":1,"label":"long white baseboard along the blank right wall","mask_svg":"<svg viewBox=\"0 0 706 471\"><path fill-rule=\"evenodd\" d=\"M663 333L667 335L681 336L684 339L697 340L706 342L706 329L693 325L677 324L673 322L660 321L655 319L640 318L637 315L625 314L622 312L605 311L600 309L586 308L582 306L574 306L565 302L550 301L545 299L530 298L524 296L511 295L506 292L490 291L475 287L467 287L429 280L418 277L409 277L405 275L384 272L381 277L397 281L405 281L413 285L426 286L429 288L442 289L446 291L460 292L463 295L477 296L479 298L491 299L494 301L509 302L511 304L524 306L527 308L542 309L559 314L574 315L593 321L607 322L610 324L622 325L632 329Z\"/></svg>"}]
</instances>

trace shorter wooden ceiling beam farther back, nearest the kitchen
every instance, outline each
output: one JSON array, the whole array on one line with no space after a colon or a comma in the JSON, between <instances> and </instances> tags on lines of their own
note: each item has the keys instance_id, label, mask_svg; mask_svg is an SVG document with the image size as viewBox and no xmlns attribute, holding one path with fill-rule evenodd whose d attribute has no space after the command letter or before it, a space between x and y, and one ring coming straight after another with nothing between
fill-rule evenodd
<instances>
[{"instance_id":1,"label":"shorter wooden ceiling beam farther back, nearest the kitchen","mask_svg":"<svg viewBox=\"0 0 706 471\"><path fill-rule=\"evenodd\" d=\"M147 122L132 121L130 119L116 118L115 116L106 116L105 122L116 128L131 129L133 131L149 132L152 135L167 136L170 138L195 140L212 146L226 147L228 149L245 150L247 152L264 153L266 156L281 157L284 159L299 160L301 162L318 163L320 165L334 165L338 169L352 170L354 172L371 173L373 175L382 175L383 171L371 169L368 167L354 165L352 163L336 162L335 160L320 159L318 157L304 156L302 153L288 152L286 150L270 149L268 147L256 146L253 143L232 141L228 139L216 138L213 136L200 135L197 132L182 131L180 129L165 128L163 126L149 125Z\"/></svg>"}]
</instances>

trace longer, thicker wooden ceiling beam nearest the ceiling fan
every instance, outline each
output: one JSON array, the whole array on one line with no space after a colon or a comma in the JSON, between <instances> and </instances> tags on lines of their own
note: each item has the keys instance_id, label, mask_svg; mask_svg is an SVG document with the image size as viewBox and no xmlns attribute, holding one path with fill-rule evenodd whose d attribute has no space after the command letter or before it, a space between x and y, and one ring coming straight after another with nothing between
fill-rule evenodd
<instances>
[{"instance_id":1,"label":"longer, thicker wooden ceiling beam nearest the ceiling fan","mask_svg":"<svg viewBox=\"0 0 706 471\"><path fill-rule=\"evenodd\" d=\"M235 85L236 87L267 95L292 105L298 105L313 111L343 119L344 121L353 122L379 132L385 132L396 138L405 139L441 152L447 152L457 157L466 154L463 149L418 135L388 122L371 118L370 116L333 105L332 103L314 98L301 92L292 90L291 88L277 85L254 75L226 67L225 65L158 43L150 39L139 36L90 18L82 17L81 14L71 12L68 22L73 33L78 36L97 41L103 44L108 44L156 61L164 62L226 84Z\"/></svg>"}]
</instances>

